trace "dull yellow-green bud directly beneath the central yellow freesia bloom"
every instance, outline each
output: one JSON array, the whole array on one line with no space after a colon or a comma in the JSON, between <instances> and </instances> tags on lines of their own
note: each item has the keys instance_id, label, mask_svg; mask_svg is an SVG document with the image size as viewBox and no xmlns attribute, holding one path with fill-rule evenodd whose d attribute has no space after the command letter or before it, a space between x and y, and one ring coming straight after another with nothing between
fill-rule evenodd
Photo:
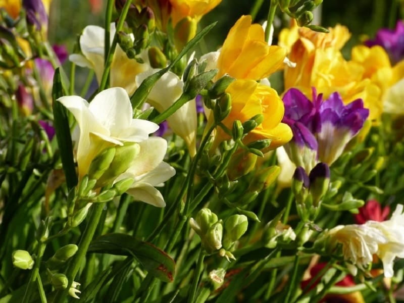
<instances>
[{"instance_id":1,"label":"dull yellow-green bud directly beneath the central yellow freesia bloom","mask_svg":"<svg viewBox=\"0 0 404 303\"><path fill-rule=\"evenodd\" d=\"M236 180L255 168L257 156L248 153L244 149L237 150L230 158L229 165L227 166L227 176L229 180Z\"/></svg>"}]
</instances>

